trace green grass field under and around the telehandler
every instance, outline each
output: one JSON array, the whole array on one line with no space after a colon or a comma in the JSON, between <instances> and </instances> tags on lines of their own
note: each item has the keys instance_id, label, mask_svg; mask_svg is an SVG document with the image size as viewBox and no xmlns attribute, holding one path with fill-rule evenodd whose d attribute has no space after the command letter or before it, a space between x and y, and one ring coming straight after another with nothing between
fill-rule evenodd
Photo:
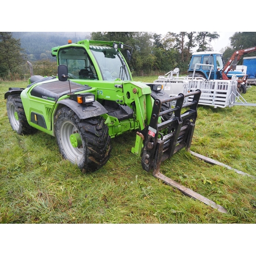
<instances>
[{"instance_id":1,"label":"green grass field under and around the telehandler","mask_svg":"<svg viewBox=\"0 0 256 256\"><path fill-rule=\"evenodd\" d=\"M134 80L153 82L157 77ZM83 175L62 160L55 138L12 131L0 82L0 223L255 223L255 180L181 150L161 172L224 206L227 214L184 196L146 173L131 153L135 132L112 139L111 158ZM243 95L256 102L256 87ZM199 106L191 150L256 176L256 109Z\"/></svg>"}]
</instances>

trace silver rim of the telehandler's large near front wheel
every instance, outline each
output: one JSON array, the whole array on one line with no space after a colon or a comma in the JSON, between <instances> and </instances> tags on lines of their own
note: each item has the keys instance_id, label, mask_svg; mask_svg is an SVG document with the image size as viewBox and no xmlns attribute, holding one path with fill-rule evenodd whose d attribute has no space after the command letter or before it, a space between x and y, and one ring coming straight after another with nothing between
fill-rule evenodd
<instances>
[{"instance_id":1,"label":"silver rim of the telehandler's large near front wheel","mask_svg":"<svg viewBox=\"0 0 256 256\"><path fill-rule=\"evenodd\" d=\"M80 135L73 123L66 121L63 122L60 129L60 139L62 141L63 149L65 150L68 158L73 162L81 161L83 157L83 147L74 147L71 143L72 135L81 140ZM74 143L73 143L74 144ZM80 143L79 143L80 144Z\"/></svg>"}]
</instances>

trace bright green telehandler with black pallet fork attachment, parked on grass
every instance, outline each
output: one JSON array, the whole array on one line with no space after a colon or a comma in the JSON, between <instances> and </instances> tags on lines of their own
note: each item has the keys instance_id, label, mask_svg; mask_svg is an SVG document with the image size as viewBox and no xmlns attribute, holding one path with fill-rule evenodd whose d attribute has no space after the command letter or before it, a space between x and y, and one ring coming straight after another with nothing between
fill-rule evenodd
<instances>
[{"instance_id":1,"label":"bright green telehandler with black pallet fork attachment, parked on grass","mask_svg":"<svg viewBox=\"0 0 256 256\"><path fill-rule=\"evenodd\" d=\"M133 81L123 54L133 48L122 42L81 40L52 48L57 76L33 74L27 88L5 93L12 129L36 130L56 138L60 154L83 173L95 171L110 158L111 138L135 131L132 153L142 168L219 211L222 206L160 173L161 162L185 147L190 150L201 91L168 96L161 85ZM186 103L186 97L193 100Z\"/></svg>"}]
</instances>

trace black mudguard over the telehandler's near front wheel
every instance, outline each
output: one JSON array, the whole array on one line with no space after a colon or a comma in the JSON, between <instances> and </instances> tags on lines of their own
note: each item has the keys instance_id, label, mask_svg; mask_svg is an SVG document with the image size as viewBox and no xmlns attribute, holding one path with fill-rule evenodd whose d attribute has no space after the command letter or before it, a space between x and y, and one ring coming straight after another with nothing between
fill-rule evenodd
<instances>
[{"instance_id":1,"label":"black mudguard over the telehandler's near front wheel","mask_svg":"<svg viewBox=\"0 0 256 256\"><path fill-rule=\"evenodd\" d=\"M68 106L81 120L108 113L104 106L102 106L98 101L94 101L90 105L82 105L71 99L62 99L58 101L57 104Z\"/></svg>"}]
</instances>

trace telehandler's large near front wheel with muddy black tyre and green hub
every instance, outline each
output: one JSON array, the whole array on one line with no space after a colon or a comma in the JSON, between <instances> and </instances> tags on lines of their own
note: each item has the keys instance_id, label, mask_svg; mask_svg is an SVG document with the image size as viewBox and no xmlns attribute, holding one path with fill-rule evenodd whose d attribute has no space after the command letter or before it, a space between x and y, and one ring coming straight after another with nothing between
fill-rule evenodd
<instances>
[{"instance_id":1,"label":"telehandler's large near front wheel with muddy black tyre and green hub","mask_svg":"<svg viewBox=\"0 0 256 256\"><path fill-rule=\"evenodd\" d=\"M64 107L57 112L54 126L60 154L83 173L95 171L109 160L110 136L103 118L80 120L74 111Z\"/></svg>"}]
</instances>

